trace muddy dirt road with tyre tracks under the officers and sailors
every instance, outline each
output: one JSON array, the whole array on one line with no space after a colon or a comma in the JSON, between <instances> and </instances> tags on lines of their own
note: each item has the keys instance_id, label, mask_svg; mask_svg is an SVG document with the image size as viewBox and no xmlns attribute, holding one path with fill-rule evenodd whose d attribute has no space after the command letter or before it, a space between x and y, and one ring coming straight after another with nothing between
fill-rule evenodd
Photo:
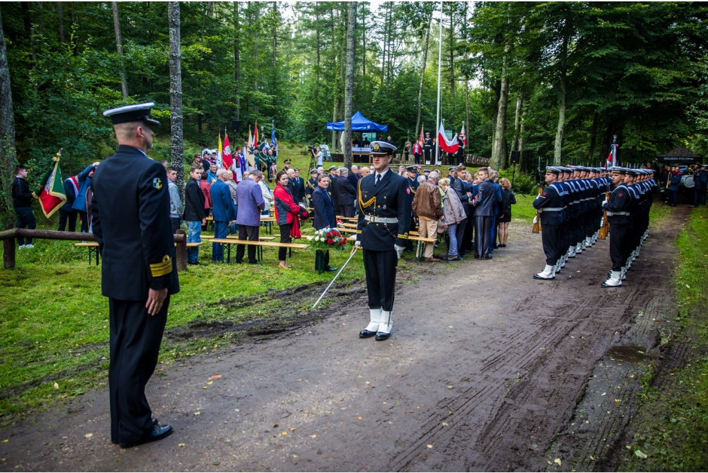
<instances>
[{"instance_id":1,"label":"muddy dirt road with tyre tracks under the officers and sailors","mask_svg":"<svg viewBox=\"0 0 708 473\"><path fill-rule=\"evenodd\" d=\"M654 231L624 286L612 289L600 288L607 242L571 259L555 281L535 281L539 235L514 226L515 242L491 262L419 264L399 274L388 341L358 338L368 317L362 294L279 339L159 371L147 396L176 430L166 440L112 445L101 390L0 433L8 439L0 469L612 468L606 460L632 405L613 392L593 394L593 383L617 383L627 401L636 390L629 370L598 378L599 370L624 361L606 354L612 346L656 351L661 322L634 319L670 310L667 269L685 215ZM634 373L643 359L625 365ZM579 414L583 402L598 405L597 414ZM622 408L604 414L605 402Z\"/></svg>"}]
</instances>

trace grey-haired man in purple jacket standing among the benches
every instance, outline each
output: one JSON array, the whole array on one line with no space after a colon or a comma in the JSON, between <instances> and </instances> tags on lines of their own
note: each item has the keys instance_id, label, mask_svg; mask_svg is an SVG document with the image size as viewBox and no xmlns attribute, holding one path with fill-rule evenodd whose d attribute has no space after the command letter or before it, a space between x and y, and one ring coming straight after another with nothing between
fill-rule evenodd
<instances>
[{"instance_id":1,"label":"grey-haired man in purple jacket standing among the benches","mask_svg":"<svg viewBox=\"0 0 708 473\"><path fill-rule=\"evenodd\" d=\"M251 171L248 178L236 187L236 205L239 206L236 214L236 223L239 225L239 240L258 241L258 228L261 228L261 210L265 209L263 193L258 182L263 180L263 173L258 170ZM236 262L244 262L244 246L236 247ZM256 247L249 245L249 264L258 264Z\"/></svg>"}]
</instances>

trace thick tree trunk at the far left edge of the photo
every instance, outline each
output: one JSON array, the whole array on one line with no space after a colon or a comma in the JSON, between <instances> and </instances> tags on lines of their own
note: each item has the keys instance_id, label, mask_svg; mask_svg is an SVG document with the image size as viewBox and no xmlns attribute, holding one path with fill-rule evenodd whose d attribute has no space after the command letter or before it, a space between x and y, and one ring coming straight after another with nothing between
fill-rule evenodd
<instances>
[{"instance_id":1,"label":"thick tree trunk at the far left edge of the photo","mask_svg":"<svg viewBox=\"0 0 708 473\"><path fill-rule=\"evenodd\" d=\"M15 115L12 106L5 33L2 28L2 12L0 11L0 181L5 197L2 202L2 214L6 215L12 212L12 181L16 164Z\"/></svg>"}]
</instances>

